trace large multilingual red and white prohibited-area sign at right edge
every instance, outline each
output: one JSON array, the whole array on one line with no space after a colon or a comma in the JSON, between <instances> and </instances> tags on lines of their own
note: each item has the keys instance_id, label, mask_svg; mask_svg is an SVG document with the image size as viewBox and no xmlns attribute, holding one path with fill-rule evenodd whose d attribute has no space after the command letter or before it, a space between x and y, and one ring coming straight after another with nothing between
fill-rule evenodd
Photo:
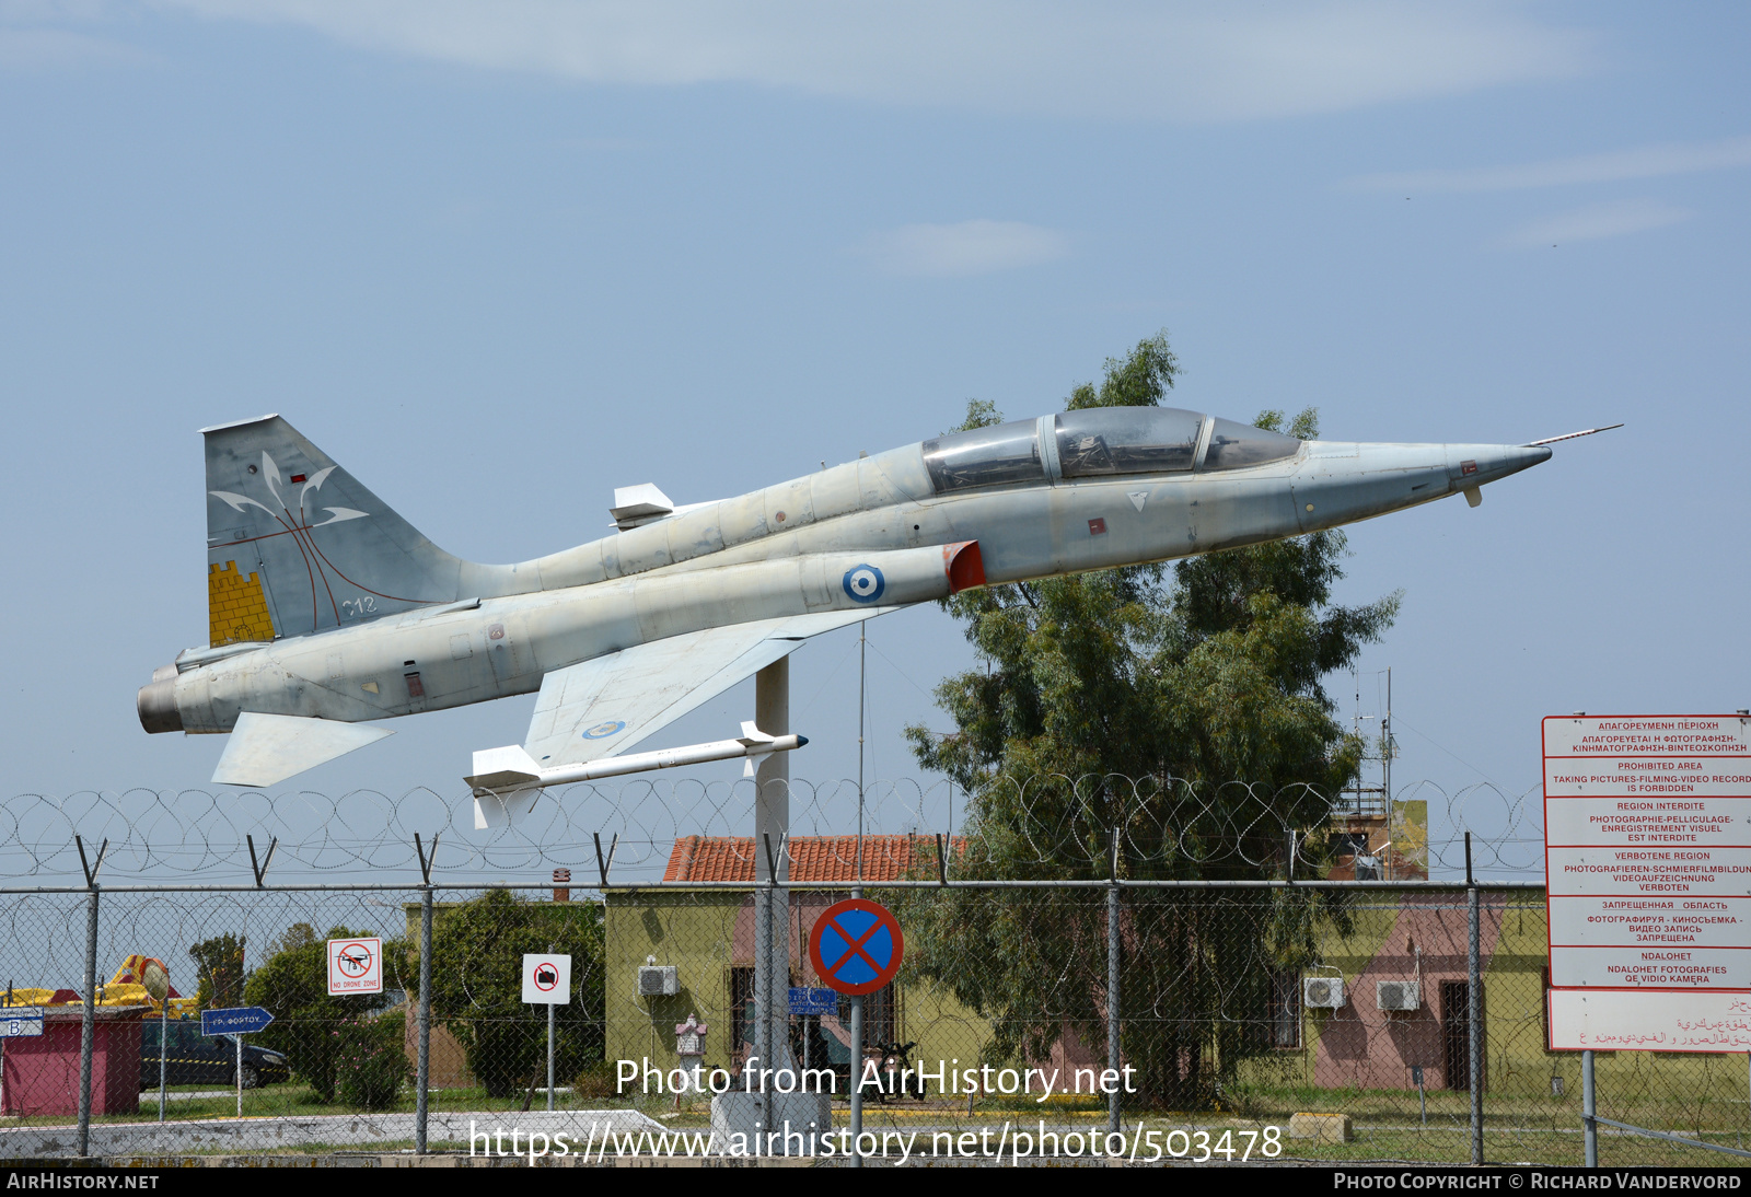
<instances>
[{"instance_id":1,"label":"large multilingual red and white prohibited-area sign at right edge","mask_svg":"<svg viewBox=\"0 0 1751 1197\"><path fill-rule=\"evenodd\" d=\"M1544 878L1553 1048L1746 1050L1751 719L1544 719Z\"/></svg>"}]
</instances>

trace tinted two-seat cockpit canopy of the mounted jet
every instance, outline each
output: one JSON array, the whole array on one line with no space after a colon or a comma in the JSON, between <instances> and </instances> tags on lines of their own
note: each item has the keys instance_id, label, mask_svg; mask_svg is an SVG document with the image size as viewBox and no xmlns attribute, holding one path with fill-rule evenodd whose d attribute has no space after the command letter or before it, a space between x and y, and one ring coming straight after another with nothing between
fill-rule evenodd
<instances>
[{"instance_id":1,"label":"tinted two-seat cockpit canopy of the mounted jet","mask_svg":"<svg viewBox=\"0 0 1751 1197\"><path fill-rule=\"evenodd\" d=\"M1089 408L1052 416L1066 480L1247 469L1301 450L1301 441L1178 408ZM925 441L937 494L1045 481L1040 422L1012 420Z\"/></svg>"}]
</instances>

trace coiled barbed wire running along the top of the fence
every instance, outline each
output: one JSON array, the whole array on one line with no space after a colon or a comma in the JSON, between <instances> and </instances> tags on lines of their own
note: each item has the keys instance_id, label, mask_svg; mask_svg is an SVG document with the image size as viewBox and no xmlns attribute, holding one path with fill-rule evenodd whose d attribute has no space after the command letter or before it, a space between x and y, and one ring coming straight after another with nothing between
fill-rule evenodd
<instances>
[{"instance_id":1,"label":"coiled barbed wire running along the top of the fence","mask_svg":"<svg viewBox=\"0 0 1751 1197\"><path fill-rule=\"evenodd\" d=\"M946 779L791 780L790 835L832 838L825 852L849 864L856 831L868 836L953 836L961 877L995 870L1110 868L1110 831L1131 870L1163 875L1275 875L1294 833L1294 870L1315 877L1348 856L1385 852L1387 873L1464 875L1466 833L1480 877L1543 872L1537 791L1492 784L1446 791L1411 782L1380 794L1324 794L1311 786L1201 784L1173 777L993 777L972 794ZM552 868L599 880L613 852L616 880L660 880L686 836L746 838L755 782L634 779L545 793L511 826L476 828L469 794L415 788L399 796L315 791L128 789L0 802L0 877L18 884L82 882L88 852L109 844L110 882L252 880L275 844L273 875L417 884L415 835L431 849L432 878L539 880ZM1418 807L1418 803L1422 803ZM1387 844L1382 847L1382 835ZM1394 838L1396 836L1396 838ZM250 859L254 840L256 861ZM746 850L746 849L742 849ZM930 856L933 859L933 856ZM1408 870L1408 872L1406 872ZM1105 872L1100 872L1105 875Z\"/></svg>"}]
</instances>

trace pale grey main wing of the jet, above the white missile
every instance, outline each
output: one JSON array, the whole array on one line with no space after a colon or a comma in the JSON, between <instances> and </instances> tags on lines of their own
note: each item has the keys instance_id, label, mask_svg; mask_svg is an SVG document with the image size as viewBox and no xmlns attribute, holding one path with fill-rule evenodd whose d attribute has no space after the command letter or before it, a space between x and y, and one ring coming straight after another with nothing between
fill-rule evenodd
<instances>
[{"instance_id":1,"label":"pale grey main wing of the jet, above the white missile","mask_svg":"<svg viewBox=\"0 0 1751 1197\"><path fill-rule=\"evenodd\" d=\"M811 635L890 611L898 607L732 623L553 670L541 679L524 749L541 768L583 765L623 752L788 656Z\"/></svg>"}]
</instances>

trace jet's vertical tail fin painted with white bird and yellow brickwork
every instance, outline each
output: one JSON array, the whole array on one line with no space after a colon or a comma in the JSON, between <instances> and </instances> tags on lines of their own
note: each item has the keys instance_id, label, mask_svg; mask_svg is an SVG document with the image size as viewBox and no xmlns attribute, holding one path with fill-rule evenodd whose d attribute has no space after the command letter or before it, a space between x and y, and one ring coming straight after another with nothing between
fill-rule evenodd
<instances>
[{"instance_id":1,"label":"jet's vertical tail fin painted with white bird and yellow brickwork","mask_svg":"<svg viewBox=\"0 0 1751 1197\"><path fill-rule=\"evenodd\" d=\"M462 597L461 558L280 416L201 434L210 644L306 635Z\"/></svg>"}]
</instances>

